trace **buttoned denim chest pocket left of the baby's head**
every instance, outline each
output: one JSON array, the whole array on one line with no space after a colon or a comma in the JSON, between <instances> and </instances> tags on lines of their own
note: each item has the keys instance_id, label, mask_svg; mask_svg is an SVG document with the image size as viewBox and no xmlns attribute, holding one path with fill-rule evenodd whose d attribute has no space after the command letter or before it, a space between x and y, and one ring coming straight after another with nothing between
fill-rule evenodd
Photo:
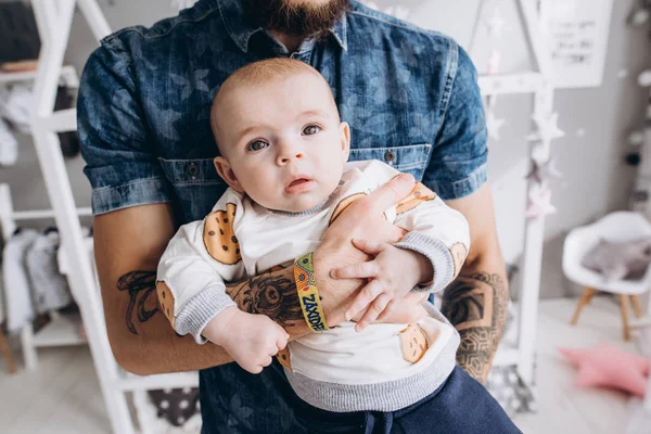
<instances>
[{"instance_id":1,"label":"buttoned denim chest pocket left of the baby's head","mask_svg":"<svg viewBox=\"0 0 651 434\"><path fill-rule=\"evenodd\" d=\"M158 158L165 178L174 186L183 222L204 218L228 188L213 165L213 158Z\"/></svg>"}]
</instances>

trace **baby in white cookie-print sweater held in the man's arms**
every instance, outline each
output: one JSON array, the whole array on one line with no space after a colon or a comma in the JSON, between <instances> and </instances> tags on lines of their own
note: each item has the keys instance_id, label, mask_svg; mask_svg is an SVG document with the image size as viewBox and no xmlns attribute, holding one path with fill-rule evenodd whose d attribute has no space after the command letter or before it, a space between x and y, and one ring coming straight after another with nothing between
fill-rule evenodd
<instances>
[{"instance_id":1,"label":"baby in white cookie-print sweater held in the man's arms","mask_svg":"<svg viewBox=\"0 0 651 434\"><path fill-rule=\"evenodd\" d=\"M349 127L324 78L298 61L237 71L210 119L220 151L215 167L229 189L204 220L179 229L161 258L158 298L175 330L222 346L253 373L280 352L296 394L323 410L395 411L436 391L455 368L459 335L449 322L430 304L416 323L371 322L388 302L441 291L457 277L470 248L463 216L421 183L386 209L408 233L394 245L355 241L374 259L336 275L367 279L373 301L358 296L346 318L361 312L361 320L328 329L310 252L347 205L398 171L378 161L347 163ZM294 267L315 331L289 344L280 326L239 310L225 292L225 282L275 266Z\"/></svg>"}]
</instances>

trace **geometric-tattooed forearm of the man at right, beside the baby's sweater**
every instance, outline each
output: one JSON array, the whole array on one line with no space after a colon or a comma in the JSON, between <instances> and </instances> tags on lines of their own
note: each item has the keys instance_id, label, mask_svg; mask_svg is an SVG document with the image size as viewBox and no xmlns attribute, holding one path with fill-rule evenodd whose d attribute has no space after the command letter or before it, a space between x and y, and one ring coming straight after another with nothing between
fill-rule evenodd
<instances>
[{"instance_id":1,"label":"geometric-tattooed forearm of the man at right, beside the baby's sweater","mask_svg":"<svg viewBox=\"0 0 651 434\"><path fill-rule=\"evenodd\" d=\"M500 275L460 276L445 291L443 315L461 334L457 362L485 382L507 321L508 289Z\"/></svg>"}]
</instances>

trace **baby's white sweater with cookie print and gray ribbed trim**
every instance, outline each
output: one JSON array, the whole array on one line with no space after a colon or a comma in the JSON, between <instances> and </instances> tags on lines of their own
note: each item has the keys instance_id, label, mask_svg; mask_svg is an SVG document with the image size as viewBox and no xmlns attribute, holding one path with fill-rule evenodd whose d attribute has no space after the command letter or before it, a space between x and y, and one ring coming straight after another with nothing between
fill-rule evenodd
<instances>
[{"instance_id":1,"label":"baby's white sweater with cookie print and gray ribbed trim","mask_svg":"<svg viewBox=\"0 0 651 434\"><path fill-rule=\"evenodd\" d=\"M158 298L175 330L205 343L205 326L234 306L225 282L292 266L296 257L316 250L347 205L397 174L379 161L347 163L330 197L303 213L267 209L228 189L204 220L178 230L158 264L157 280L171 292L159 289ZM414 291L441 291L457 277L470 248L468 222L460 213L418 183L385 216L408 231L396 246L432 261L433 282ZM409 333L408 324L380 323L357 333L353 322L344 322L291 342L291 365L284 363L291 368L285 369L288 380L301 398L329 411L394 411L424 398L454 369L459 345L449 322L430 304L426 308L431 316ZM420 334L412 335L413 330ZM407 354L412 345L407 337L413 343L426 340L418 360Z\"/></svg>"}]
</instances>

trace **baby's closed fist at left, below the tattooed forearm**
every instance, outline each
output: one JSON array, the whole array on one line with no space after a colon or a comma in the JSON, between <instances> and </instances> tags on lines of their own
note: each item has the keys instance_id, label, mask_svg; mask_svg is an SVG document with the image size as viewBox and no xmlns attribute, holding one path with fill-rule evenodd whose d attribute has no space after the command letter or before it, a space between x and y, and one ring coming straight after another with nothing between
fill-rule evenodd
<instances>
[{"instance_id":1,"label":"baby's closed fist at left, below the tattooed forearm","mask_svg":"<svg viewBox=\"0 0 651 434\"><path fill-rule=\"evenodd\" d=\"M288 345L290 335L264 315L227 307L208 322L202 334L224 347L251 373L260 373L271 358Z\"/></svg>"}]
</instances>

